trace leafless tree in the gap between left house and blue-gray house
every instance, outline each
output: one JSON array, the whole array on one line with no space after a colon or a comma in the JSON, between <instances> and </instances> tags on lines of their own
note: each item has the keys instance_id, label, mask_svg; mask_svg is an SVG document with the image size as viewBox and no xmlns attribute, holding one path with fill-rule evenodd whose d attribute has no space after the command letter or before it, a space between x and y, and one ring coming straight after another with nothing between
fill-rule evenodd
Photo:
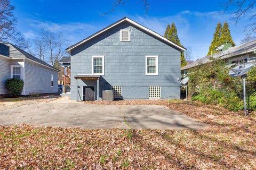
<instances>
[{"instance_id":1,"label":"leafless tree in the gap between left house and blue-gray house","mask_svg":"<svg viewBox=\"0 0 256 170\"><path fill-rule=\"evenodd\" d=\"M59 66L59 60L66 52L66 47L69 46L68 41L63 38L61 32L41 31L42 42L37 42L37 47L40 47L42 53L40 55L46 56L54 67ZM42 44L41 44L42 43Z\"/></svg>"}]
</instances>

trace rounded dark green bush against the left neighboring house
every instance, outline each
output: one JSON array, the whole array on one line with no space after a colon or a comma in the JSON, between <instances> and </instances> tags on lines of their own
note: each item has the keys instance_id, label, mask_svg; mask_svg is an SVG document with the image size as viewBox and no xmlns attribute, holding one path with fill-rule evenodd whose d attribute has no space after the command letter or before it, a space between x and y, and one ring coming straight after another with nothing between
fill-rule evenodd
<instances>
[{"instance_id":1,"label":"rounded dark green bush against the left neighboring house","mask_svg":"<svg viewBox=\"0 0 256 170\"><path fill-rule=\"evenodd\" d=\"M9 91L9 94L14 97L21 95L23 86L24 82L21 79L7 79L5 82L6 89Z\"/></svg>"}]
</instances>

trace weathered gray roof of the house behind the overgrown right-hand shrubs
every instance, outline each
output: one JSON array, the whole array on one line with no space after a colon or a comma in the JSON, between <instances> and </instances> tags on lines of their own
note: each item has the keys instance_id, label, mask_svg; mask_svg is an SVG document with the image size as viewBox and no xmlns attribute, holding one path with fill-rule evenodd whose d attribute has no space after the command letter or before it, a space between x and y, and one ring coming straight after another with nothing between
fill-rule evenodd
<instances>
[{"instance_id":1,"label":"weathered gray roof of the house behind the overgrown right-hand shrubs","mask_svg":"<svg viewBox=\"0 0 256 170\"><path fill-rule=\"evenodd\" d=\"M231 58L231 57L235 57L238 55L250 53L250 52L253 52L253 50L256 50L256 40L251 41L249 43L245 43L245 44L241 44L241 45L238 45L235 47L228 48L227 50L222 51L222 52L215 53L215 54L213 54L212 57L222 60L222 59ZM212 60L210 60L210 57L211 57L211 55L205 56L191 64L188 64L188 65L182 67L181 70L187 70L187 69L190 69L197 65L210 63L210 62L212 62Z\"/></svg>"}]
</instances>

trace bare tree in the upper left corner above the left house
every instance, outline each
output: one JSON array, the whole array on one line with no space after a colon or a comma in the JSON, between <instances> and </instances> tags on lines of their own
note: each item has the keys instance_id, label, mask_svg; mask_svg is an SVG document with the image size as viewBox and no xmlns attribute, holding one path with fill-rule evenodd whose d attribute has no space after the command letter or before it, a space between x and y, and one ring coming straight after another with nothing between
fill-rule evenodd
<instances>
[{"instance_id":1,"label":"bare tree in the upper left corner above the left house","mask_svg":"<svg viewBox=\"0 0 256 170\"><path fill-rule=\"evenodd\" d=\"M25 39L17 30L17 19L13 15L14 6L9 0L0 0L0 41L9 41L25 48Z\"/></svg>"}]
</instances>

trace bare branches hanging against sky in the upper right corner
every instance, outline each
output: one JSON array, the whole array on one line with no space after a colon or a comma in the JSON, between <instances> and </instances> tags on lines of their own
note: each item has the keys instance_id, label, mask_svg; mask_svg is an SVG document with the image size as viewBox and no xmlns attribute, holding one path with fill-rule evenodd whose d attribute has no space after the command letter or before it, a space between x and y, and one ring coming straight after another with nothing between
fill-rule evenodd
<instances>
[{"instance_id":1,"label":"bare branches hanging against sky in the upper right corner","mask_svg":"<svg viewBox=\"0 0 256 170\"><path fill-rule=\"evenodd\" d=\"M235 6L235 11L232 12L234 14L234 17L232 20L235 21L235 24L237 25L239 20L243 18L244 16L249 17L250 22L247 25L244 25L245 30L247 32L247 36L251 36L256 31L256 11L254 10L254 6L256 5L256 0L226 0L225 4L225 12L231 6Z\"/></svg>"}]
</instances>

